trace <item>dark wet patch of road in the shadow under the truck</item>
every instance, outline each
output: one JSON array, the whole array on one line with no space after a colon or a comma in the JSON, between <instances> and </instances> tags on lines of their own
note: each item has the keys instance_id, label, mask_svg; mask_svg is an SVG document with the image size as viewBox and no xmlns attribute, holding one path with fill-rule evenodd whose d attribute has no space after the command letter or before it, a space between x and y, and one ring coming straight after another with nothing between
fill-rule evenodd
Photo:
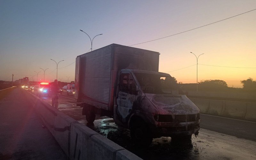
<instances>
[{"instance_id":1,"label":"dark wet patch of road in the shadow under the truck","mask_svg":"<svg viewBox=\"0 0 256 160\"><path fill-rule=\"evenodd\" d=\"M130 130L117 126L113 119L86 125L142 159L198 159L198 148L191 139L161 137L154 139L150 146L141 147L132 142Z\"/></svg>"}]
</instances>

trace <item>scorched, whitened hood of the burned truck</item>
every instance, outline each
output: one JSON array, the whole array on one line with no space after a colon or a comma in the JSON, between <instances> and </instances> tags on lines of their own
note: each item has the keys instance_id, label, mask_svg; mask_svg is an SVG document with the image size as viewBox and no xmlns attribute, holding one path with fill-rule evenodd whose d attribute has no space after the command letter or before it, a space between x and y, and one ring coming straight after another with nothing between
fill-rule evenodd
<instances>
[{"instance_id":1,"label":"scorched, whitened hood of the burned truck","mask_svg":"<svg viewBox=\"0 0 256 160\"><path fill-rule=\"evenodd\" d=\"M188 115L200 113L200 109L186 95L145 94L163 115Z\"/></svg>"}]
</instances>

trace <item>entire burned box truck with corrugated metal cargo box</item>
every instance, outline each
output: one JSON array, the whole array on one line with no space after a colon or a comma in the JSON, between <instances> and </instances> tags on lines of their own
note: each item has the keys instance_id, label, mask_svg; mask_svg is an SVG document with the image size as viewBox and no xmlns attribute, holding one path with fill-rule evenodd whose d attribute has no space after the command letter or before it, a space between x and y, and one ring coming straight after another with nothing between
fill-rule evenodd
<instances>
[{"instance_id":1,"label":"entire burned box truck with corrugated metal cargo box","mask_svg":"<svg viewBox=\"0 0 256 160\"><path fill-rule=\"evenodd\" d=\"M112 117L144 145L162 136L197 135L200 109L158 65L159 52L119 44L77 56L75 98L87 122L96 114Z\"/></svg>"}]
</instances>

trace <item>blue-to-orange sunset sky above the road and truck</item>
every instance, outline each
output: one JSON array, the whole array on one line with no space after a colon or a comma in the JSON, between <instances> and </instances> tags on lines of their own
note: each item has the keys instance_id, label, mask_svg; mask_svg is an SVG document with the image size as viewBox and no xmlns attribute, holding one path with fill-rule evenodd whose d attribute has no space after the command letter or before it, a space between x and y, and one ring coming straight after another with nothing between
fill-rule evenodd
<instances>
[{"instance_id":1,"label":"blue-to-orange sunset sky above the road and truck","mask_svg":"<svg viewBox=\"0 0 256 160\"><path fill-rule=\"evenodd\" d=\"M11 81L14 74L13 80L32 81L41 71L39 80L40 68L49 68L45 79L52 82L56 64L50 59L64 60L58 80L74 80L76 56L91 48L82 29L91 38L103 34L93 40L93 50L115 43L160 52L159 71L182 83L196 83L196 57L190 52L204 53L198 58L199 82L220 79L242 87L240 80L256 80L254 9L255 0L1 0L0 80ZM138 44L165 36L170 37Z\"/></svg>"}]
</instances>

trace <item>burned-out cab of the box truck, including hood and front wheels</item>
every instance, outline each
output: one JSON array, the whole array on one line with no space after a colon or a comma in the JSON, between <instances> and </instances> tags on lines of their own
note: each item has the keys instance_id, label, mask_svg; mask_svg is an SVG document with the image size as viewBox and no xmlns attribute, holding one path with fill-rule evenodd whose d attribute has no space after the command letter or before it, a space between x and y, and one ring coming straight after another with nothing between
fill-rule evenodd
<instances>
[{"instance_id":1,"label":"burned-out cab of the box truck, including hood and front wheels","mask_svg":"<svg viewBox=\"0 0 256 160\"><path fill-rule=\"evenodd\" d=\"M162 136L191 139L200 129L200 109L179 94L169 74L122 69L119 74L114 121L129 128L133 140L152 142Z\"/></svg>"}]
</instances>

